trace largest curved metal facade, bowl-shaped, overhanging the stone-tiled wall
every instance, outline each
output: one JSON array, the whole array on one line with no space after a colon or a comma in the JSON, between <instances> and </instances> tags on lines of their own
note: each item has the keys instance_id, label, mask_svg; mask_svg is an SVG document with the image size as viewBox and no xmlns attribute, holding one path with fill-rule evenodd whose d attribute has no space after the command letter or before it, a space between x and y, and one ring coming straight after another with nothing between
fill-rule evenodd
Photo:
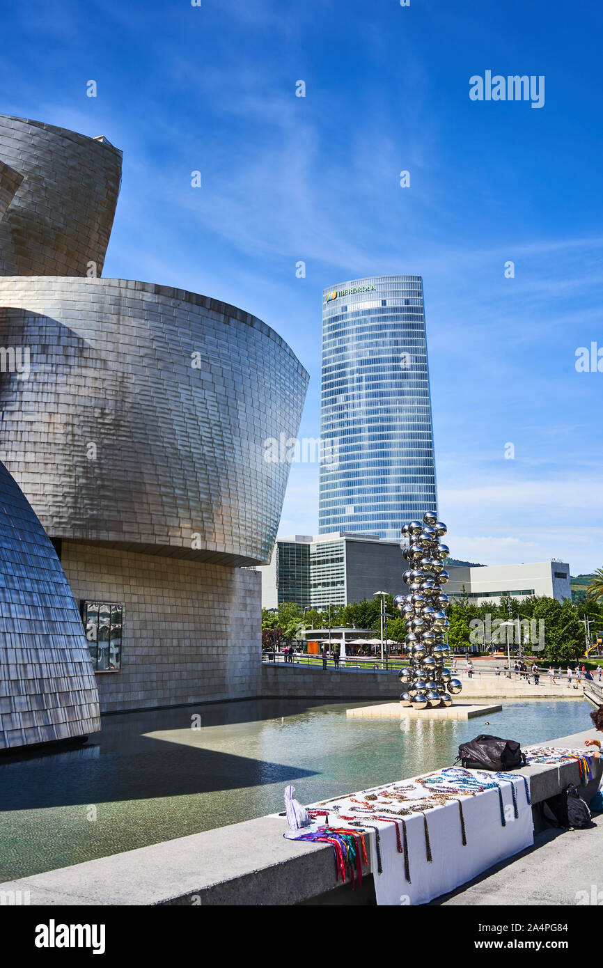
<instances>
[{"instance_id":1,"label":"largest curved metal facade, bowl-shaped, overhanging the stone-tiled wall","mask_svg":"<svg viewBox=\"0 0 603 968\"><path fill-rule=\"evenodd\" d=\"M270 559L308 374L265 323L180 289L0 279L0 459L51 537L228 564Z\"/></svg>"}]
</instances>

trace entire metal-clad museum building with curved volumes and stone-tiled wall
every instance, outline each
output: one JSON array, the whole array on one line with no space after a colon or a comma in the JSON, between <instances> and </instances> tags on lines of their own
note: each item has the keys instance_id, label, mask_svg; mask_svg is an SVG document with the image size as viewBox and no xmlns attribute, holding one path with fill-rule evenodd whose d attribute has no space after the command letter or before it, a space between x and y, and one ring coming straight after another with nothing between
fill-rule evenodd
<instances>
[{"instance_id":1,"label":"entire metal-clad museum building with curved volumes and stone-tiled wall","mask_svg":"<svg viewBox=\"0 0 603 968\"><path fill-rule=\"evenodd\" d=\"M122 154L0 116L0 749L260 694L308 374L260 319L102 278Z\"/></svg>"}]
</instances>

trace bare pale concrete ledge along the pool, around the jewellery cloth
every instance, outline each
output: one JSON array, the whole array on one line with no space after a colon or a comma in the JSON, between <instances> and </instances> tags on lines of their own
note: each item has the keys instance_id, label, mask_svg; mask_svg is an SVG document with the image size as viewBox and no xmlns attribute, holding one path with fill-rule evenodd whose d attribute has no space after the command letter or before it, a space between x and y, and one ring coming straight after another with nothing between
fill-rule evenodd
<instances>
[{"instance_id":1,"label":"bare pale concrete ledge along the pool, around the jewellery cloth","mask_svg":"<svg viewBox=\"0 0 603 968\"><path fill-rule=\"evenodd\" d=\"M592 731L542 745L585 748ZM514 771L528 776L536 804L575 783L585 800L597 789L602 771L594 761L593 780L580 788L578 763L539 764ZM392 777L392 781L403 777ZM341 887L330 845L286 840L286 820L259 817L195 833L97 861L74 864L0 884L0 892L30 892L33 905L237 905L322 904ZM347 885L337 903L358 901ZM347 897L349 900L347 900Z\"/></svg>"}]
</instances>

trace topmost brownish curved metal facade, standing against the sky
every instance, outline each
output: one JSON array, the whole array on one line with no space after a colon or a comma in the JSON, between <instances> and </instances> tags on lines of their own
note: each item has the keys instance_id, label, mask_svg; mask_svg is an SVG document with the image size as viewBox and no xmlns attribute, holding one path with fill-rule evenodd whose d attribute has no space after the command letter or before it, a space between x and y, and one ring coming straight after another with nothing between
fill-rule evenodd
<instances>
[{"instance_id":1,"label":"topmost brownish curved metal facade, standing against the sky","mask_svg":"<svg viewBox=\"0 0 603 968\"><path fill-rule=\"evenodd\" d=\"M0 275L100 276L122 153L106 138L0 114ZM2 211L5 182L12 190Z\"/></svg>"}]
</instances>

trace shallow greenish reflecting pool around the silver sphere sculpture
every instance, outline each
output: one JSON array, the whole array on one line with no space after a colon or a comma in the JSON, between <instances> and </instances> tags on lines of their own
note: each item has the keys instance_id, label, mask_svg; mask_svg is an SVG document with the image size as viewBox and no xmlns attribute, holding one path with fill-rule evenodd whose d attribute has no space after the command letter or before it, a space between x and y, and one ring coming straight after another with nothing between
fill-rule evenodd
<instances>
[{"instance_id":1,"label":"shallow greenish reflecting pool around the silver sphere sculpture","mask_svg":"<svg viewBox=\"0 0 603 968\"><path fill-rule=\"evenodd\" d=\"M266 700L106 716L82 748L0 758L0 881L210 830L452 764L479 733L530 742L588 729L585 701L505 701L468 721L347 719ZM489 725L486 725L489 723Z\"/></svg>"}]
</instances>

